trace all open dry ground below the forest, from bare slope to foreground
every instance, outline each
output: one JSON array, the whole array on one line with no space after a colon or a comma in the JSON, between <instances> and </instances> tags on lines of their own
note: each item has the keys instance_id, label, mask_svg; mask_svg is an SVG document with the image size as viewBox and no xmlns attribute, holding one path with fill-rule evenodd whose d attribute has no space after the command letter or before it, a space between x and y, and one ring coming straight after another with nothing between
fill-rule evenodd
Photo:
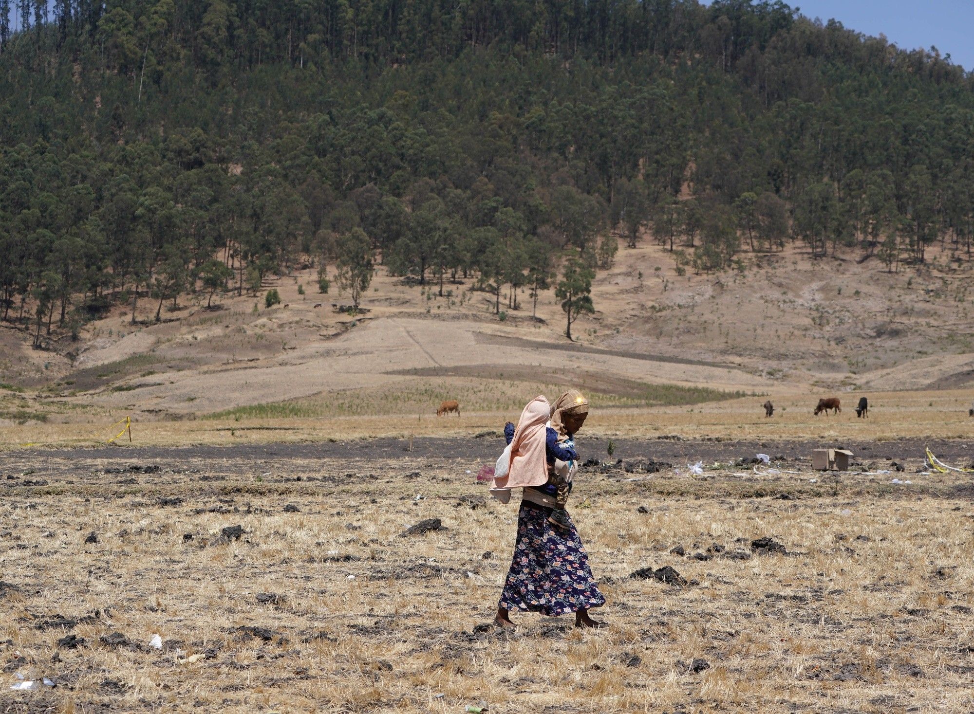
<instances>
[{"instance_id":1,"label":"all open dry ground below the forest, from bare slope to foreground","mask_svg":"<svg viewBox=\"0 0 974 714\"><path fill-rule=\"evenodd\" d=\"M921 473L924 446L974 466L969 271L674 268L620 252L576 343L551 295L502 320L384 269L355 317L307 269L270 309L116 307L48 351L4 327L0 712L974 711L974 474ZM568 385L609 464L570 504L609 626L500 632L516 506L475 475ZM815 446L865 473L811 473Z\"/></svg>"}]
</instances>

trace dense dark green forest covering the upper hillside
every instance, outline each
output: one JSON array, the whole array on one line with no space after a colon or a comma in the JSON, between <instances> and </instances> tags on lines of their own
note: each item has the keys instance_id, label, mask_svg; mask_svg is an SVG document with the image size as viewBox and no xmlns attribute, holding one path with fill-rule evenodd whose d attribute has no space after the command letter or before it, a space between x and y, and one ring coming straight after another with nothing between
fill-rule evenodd
<instances>
[{"instance_id":1,"label":"dense dark green forest covering the upper hillside","mask_svg":"<svg viewBox=\"0 0 974 714\"><path fill-rule=\"evenodd\" d=\"M0 0L0 319L381 264L570 333L620 240L969 261L972 127L949 55L782 2Z\"/></svg>"}]
</instances>

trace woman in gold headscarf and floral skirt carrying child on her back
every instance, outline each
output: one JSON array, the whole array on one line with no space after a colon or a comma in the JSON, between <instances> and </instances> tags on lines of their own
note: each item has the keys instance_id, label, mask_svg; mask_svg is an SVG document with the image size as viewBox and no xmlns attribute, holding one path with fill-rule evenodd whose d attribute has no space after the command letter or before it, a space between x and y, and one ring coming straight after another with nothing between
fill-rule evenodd
<instances>
[{"instance_id":1,"label":"woman in gold headscarf and floral skirt carrying child on her back","mask_svg":"<svg viewBox=\"0 0 974 714\"><path fill-rule=\"evenodd\" d=\"M577 471L576 459L566 463L558 458L577 458L573 438L587 413L588 402L572 390L553 408L546 399L537 397L524 408L516 429L506 429L510 466L506 477L495 480L494 490L522 488L523 497L496 625L513 627L510 611L520 610L549 617L575 613L579 627L603 626L592 620L588 611L604 605L605 597L592 577L575 523L564 511L564 498ZM554 426L556 429L551 428ZM548 434L551 431L554 440ZM560 445L548 446L550 441ZM558 510L558 522L552 522L551 514Z\"/></svg>"}]
</instances>

